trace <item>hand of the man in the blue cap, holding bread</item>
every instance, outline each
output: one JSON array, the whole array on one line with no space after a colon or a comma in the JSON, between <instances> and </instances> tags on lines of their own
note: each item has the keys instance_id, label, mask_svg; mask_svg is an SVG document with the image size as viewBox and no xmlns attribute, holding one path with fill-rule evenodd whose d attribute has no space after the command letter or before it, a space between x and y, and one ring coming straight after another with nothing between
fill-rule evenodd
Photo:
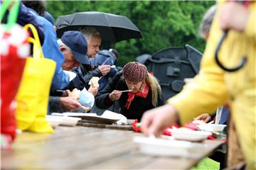
<instances>
[{"instance_id":1,"label":"hand of the man in the blue cap, holding bread","mask_svg":"<svg viewBox=\"0 0 256 170\"><path fill-rule=\"evenodd\" d=\"M68 111L75 111L82 105L73 97L60 97L60 106Z\"/></svg>"}]
</instances>

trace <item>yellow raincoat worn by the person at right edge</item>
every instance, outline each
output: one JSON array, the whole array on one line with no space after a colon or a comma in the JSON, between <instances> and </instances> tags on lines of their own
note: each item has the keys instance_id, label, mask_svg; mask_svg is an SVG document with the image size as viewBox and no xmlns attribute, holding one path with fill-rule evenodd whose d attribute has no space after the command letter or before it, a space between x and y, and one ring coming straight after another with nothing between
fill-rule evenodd
<instances>
[{"instance_id":1,"label":"yellow raincoat worn by the person at right edge","mask_svg":"<svg viewBox=\"0 0 256 170\"><path fill-rule=\"evenodd\" d=\"M231 115L248 169L256 169L255 4L255 1L250 2L250 18L243 33L229 30L218 55L220 62L228 68L236 67L241 58L246 56L245 66L238 72L228 73L215 63L215 49L223 33L220 30L217 10L203 54L200 74L191 84L184 86L180 94L167 101L177 109L182 124L190 122L201 113L211 113L218 106L230 103ZM220 5L223 5L223 2L218 4Z\"/></svg>"}]
</instances>

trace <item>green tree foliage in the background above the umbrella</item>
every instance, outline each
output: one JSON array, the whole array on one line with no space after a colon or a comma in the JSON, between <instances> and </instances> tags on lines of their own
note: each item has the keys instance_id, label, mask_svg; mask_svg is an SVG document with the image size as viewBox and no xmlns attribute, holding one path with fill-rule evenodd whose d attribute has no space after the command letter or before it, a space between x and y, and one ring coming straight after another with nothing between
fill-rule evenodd
<instances>
[{"instance_id":1,"label":"green tree foliage in the background above the umbrella","mask_svg":"<svg viewBox=\"0 0 256 170\"><path fill-rule=\"evenodd\" d=\"M189 44L203 52L205 42L198 38L203 13L215 1L48 1L54 18L79 11L102 11L127 16L143 39L102 45L119 50L117 64L123 66L144 53L154 54L166 47Z\"/></svg>"}]
</instances>

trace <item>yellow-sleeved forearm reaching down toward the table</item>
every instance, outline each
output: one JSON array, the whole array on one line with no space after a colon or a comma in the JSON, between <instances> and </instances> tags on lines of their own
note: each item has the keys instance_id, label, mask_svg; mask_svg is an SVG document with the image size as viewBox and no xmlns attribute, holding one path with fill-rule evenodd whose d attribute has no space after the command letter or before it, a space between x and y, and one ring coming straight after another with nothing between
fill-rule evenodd
<instances>
[{"instance_id":1,"label":"yellow-sleeved forearm reaching down toward the table","mask_svg":"<svg viewBox=\"0 0 256 170\"><path fill-rule=\"evenodd\" d=\"M199 75L167 103L176 108L181 123L186 124L201 113L212 113L228 98L223 78Z\"/></svg>"}]
</instances>

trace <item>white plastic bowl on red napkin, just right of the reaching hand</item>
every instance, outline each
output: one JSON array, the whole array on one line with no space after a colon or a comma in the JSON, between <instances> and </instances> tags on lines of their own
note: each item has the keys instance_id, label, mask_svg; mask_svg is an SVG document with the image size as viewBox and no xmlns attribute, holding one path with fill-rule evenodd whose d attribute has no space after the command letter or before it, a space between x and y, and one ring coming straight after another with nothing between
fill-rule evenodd
<instances>
[{"instance_id":1,"label":"white plastic bowl on red napkin, just right of the reaching hand","mask_svg":"<svg viewBox=\"0 0 256 170\"><path fill-rule=\"evenodd\" d=\"M211 132L195 131L195 130L179 130L171 129L171 135L176 140L188 140L192 142L200 142L206 140L209 135L212 135Z\"/></svg>"}]
</instances>

